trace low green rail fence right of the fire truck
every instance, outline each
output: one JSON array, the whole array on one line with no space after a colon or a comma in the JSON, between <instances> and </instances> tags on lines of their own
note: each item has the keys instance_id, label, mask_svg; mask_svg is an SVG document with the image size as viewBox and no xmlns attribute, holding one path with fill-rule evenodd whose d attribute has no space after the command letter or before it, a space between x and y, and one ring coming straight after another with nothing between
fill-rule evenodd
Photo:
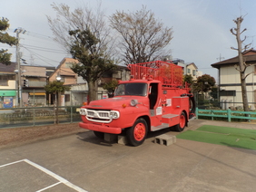
<instances>
[{"instance_id":1,"label":"low green rail fence right of the fire truck","mask_svg":"<svg viewBox=\"0 0 256 192\"><path fill-rule=\"evenodd\" d=\"M206 119L210 120L228 120L231 122L233 119L235 120L256 120L256 112L255 111L240 111L240 110L200 110L196 108L195 110L196 117L198 119Z\"/></svg>"}]
</instances>

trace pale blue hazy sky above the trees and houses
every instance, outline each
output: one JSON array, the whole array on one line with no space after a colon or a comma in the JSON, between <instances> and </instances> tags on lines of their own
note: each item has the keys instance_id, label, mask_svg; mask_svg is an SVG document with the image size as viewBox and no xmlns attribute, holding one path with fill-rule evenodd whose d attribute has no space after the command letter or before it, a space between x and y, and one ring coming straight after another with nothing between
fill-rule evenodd
<instances>
[{"instance_id":1,"label":"pale blue hazy sky above the trees and houses","mask_svg":"<svg viewBox=\"0 0 256 192\"><path fill-rule=\"evenodd\" d=\"M1 0L4 1L4 0ZM211 64L237 56L235 36L230 29L239 16L244 20L241 35L247 36L244 44L256 47L256 1L255 0L102 0L106 16L117 10L134 12L146 5L155 18L164 26L172 27L173 39L168 48L172 58L184 62L194 62L202 74L210 74L218 81L218 70ZM58 43L52 40L53 34L46 15L55 18L52 4L66 4L74 8L88 5L95 8L95 0L8 0L1 4L0 16L9 20L8 34L15 36L15 29L23 28L20 34L20 52L27 64L56 67L64 57L71 57ZM15 62L15 47L0 43L0 49L9 49Z\"/></svg>"}]
</instances>

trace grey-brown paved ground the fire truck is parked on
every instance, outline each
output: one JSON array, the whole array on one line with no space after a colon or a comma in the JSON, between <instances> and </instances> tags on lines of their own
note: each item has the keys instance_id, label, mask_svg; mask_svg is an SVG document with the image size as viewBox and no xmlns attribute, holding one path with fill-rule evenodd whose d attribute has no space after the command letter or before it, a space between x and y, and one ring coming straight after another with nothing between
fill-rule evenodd
<instances>
[{"instance_id":1,"label":"grey-brown paved ground the fire truck is parked on","mask_svg":"<svg viewBox=\"0 0 256 192\"><path fill-rule=\"evenodd\" d=\"M256 129L256 124L192 120L202 124ZM58 139L0 150L0 191L254 191L256 150L177 139L142 146L96 139L83 131Z\"/></svg>"}]
</instances>

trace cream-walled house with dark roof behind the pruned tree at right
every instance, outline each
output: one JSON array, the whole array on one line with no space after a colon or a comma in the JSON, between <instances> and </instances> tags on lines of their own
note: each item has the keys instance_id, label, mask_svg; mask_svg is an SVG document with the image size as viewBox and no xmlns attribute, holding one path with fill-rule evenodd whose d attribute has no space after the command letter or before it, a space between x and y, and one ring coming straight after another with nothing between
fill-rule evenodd
<instances>
[{"instance_id":1,"label":"cream-walled house with dark roof behind the pruned tree at right","mask_svg":"<svg viewBox=\"0 0 256 192\"><path fill-rule=\"evenodd\" d=\"M254 110L256 107L256 50L248 50L242 53L243 60L250 66L246 74L247 97L249 107ZM219 70L220 101L230 102L231 106L242 106L241 78L240 72L235 69L239 65L239 57L233 57L222 62L212 63L212 67ZM230 106L230 107L231 107Z\"/></svg>"}]
</instances>

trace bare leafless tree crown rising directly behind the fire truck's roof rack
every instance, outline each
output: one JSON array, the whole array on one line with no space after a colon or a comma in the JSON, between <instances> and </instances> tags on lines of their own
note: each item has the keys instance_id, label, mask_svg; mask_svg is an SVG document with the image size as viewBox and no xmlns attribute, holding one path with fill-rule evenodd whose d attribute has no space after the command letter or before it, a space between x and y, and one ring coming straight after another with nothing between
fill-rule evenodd
<instances>
[{"instance_id":1,"label":"bare leafless tree crown rising directly behind the fire truck's roof rack","mask_svg":"<svg viewBox=\"0 0 256 192\"><path fill-rule=\"evenodd\" d=\"M170 54L165 48L172 40L172 27L164 27L145 6L134 13L117 11L110 22L122 37L118 47L125 64L151 62Z\"/></svg>"}]
</instances>

